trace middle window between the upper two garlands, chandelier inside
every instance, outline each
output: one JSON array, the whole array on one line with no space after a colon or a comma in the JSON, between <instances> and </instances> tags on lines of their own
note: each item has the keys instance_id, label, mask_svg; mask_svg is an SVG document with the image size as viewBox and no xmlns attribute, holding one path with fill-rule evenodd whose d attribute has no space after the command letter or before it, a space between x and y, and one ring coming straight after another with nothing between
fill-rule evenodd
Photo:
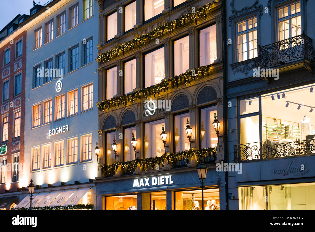
<instances>
[{"instance_id":1,"label":"middle window between the upper two garlands, chandelier inside","mask_svg":"<svg viewBox=\"0 0 315 232\"><path fill-rule=\"evenodd\" d=\"M165 78L164 47L147 53L145 63L145 87L160 83Z\"/></svg>"}]
</instances>

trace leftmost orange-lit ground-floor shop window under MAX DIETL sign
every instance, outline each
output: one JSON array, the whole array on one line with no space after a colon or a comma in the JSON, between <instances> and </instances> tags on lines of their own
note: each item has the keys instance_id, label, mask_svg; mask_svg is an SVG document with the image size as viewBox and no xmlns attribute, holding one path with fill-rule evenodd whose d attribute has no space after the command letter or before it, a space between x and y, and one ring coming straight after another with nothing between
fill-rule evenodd
<instances>
[{"instance_id":1,"label":"leftmost orange-lit ground-floor shop window under MAX DIETL sign","mask_svg":"<svg viewBox=\"0 0 315 232\"><path fill-rule=\"evenodd\" d=\"M137 195L107 196L106 210L137 210Z\"/></svg>"}]
</instances>

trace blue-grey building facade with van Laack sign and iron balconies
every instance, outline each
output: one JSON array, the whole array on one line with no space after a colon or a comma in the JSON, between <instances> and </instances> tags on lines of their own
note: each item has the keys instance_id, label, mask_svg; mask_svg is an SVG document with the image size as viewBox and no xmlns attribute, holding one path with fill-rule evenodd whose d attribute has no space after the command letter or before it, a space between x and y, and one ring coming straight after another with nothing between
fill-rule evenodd
<instances>
[{"instance_id":1,"label":"blue-grey building facade with van Laack sign and iron balconies","mask_svg":"<svg viewBox=\"0 0 315 232\"><path fill-rule=\"evenodd\" d=\"M313 210L313 1L226 1L229 209Z\"/></svg>"}]
</instances>

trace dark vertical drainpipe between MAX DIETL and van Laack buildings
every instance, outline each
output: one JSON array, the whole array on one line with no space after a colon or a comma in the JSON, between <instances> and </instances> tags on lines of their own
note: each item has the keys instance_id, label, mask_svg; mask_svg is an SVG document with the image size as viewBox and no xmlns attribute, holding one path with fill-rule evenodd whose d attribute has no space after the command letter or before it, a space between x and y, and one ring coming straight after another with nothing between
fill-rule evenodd
<instances>
[{"instance_id":1,"label":"dark vertical drainpipe between MAX DIETL and van Laack buildings","mask_svg":"<svg viewBox=\"0 0 315 232\"><path fill-rule=\"evenodd\" d=\"M227 146L227 98L226 98L226 82L227 82L227 59L226 59L226 0L222 1L223 5L223 147L224 147L224 162L229 162L228 146ZM229 189L228 189L228 172L225 172L225 199L226 199L226 210L229 210Z\"/></svg>"}]
</instances>

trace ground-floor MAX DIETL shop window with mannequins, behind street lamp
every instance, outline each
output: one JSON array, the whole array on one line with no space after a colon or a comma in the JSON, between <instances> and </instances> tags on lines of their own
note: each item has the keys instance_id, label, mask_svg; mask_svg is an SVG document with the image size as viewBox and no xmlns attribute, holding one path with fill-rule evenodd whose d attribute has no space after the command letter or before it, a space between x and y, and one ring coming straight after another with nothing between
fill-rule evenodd
<instances>
[{"instance_id":1,"label":"ground-floor MAX DIETL shop window with mannequins, behind street lamp","mask_svg":"<svg viewBox=\"0 0 315 232\"><path fill-rule=\"evenodd\" d=\"M175 210L220 210L219 189L187 190L175 192Z\"/></svg>"}]
</instances>

